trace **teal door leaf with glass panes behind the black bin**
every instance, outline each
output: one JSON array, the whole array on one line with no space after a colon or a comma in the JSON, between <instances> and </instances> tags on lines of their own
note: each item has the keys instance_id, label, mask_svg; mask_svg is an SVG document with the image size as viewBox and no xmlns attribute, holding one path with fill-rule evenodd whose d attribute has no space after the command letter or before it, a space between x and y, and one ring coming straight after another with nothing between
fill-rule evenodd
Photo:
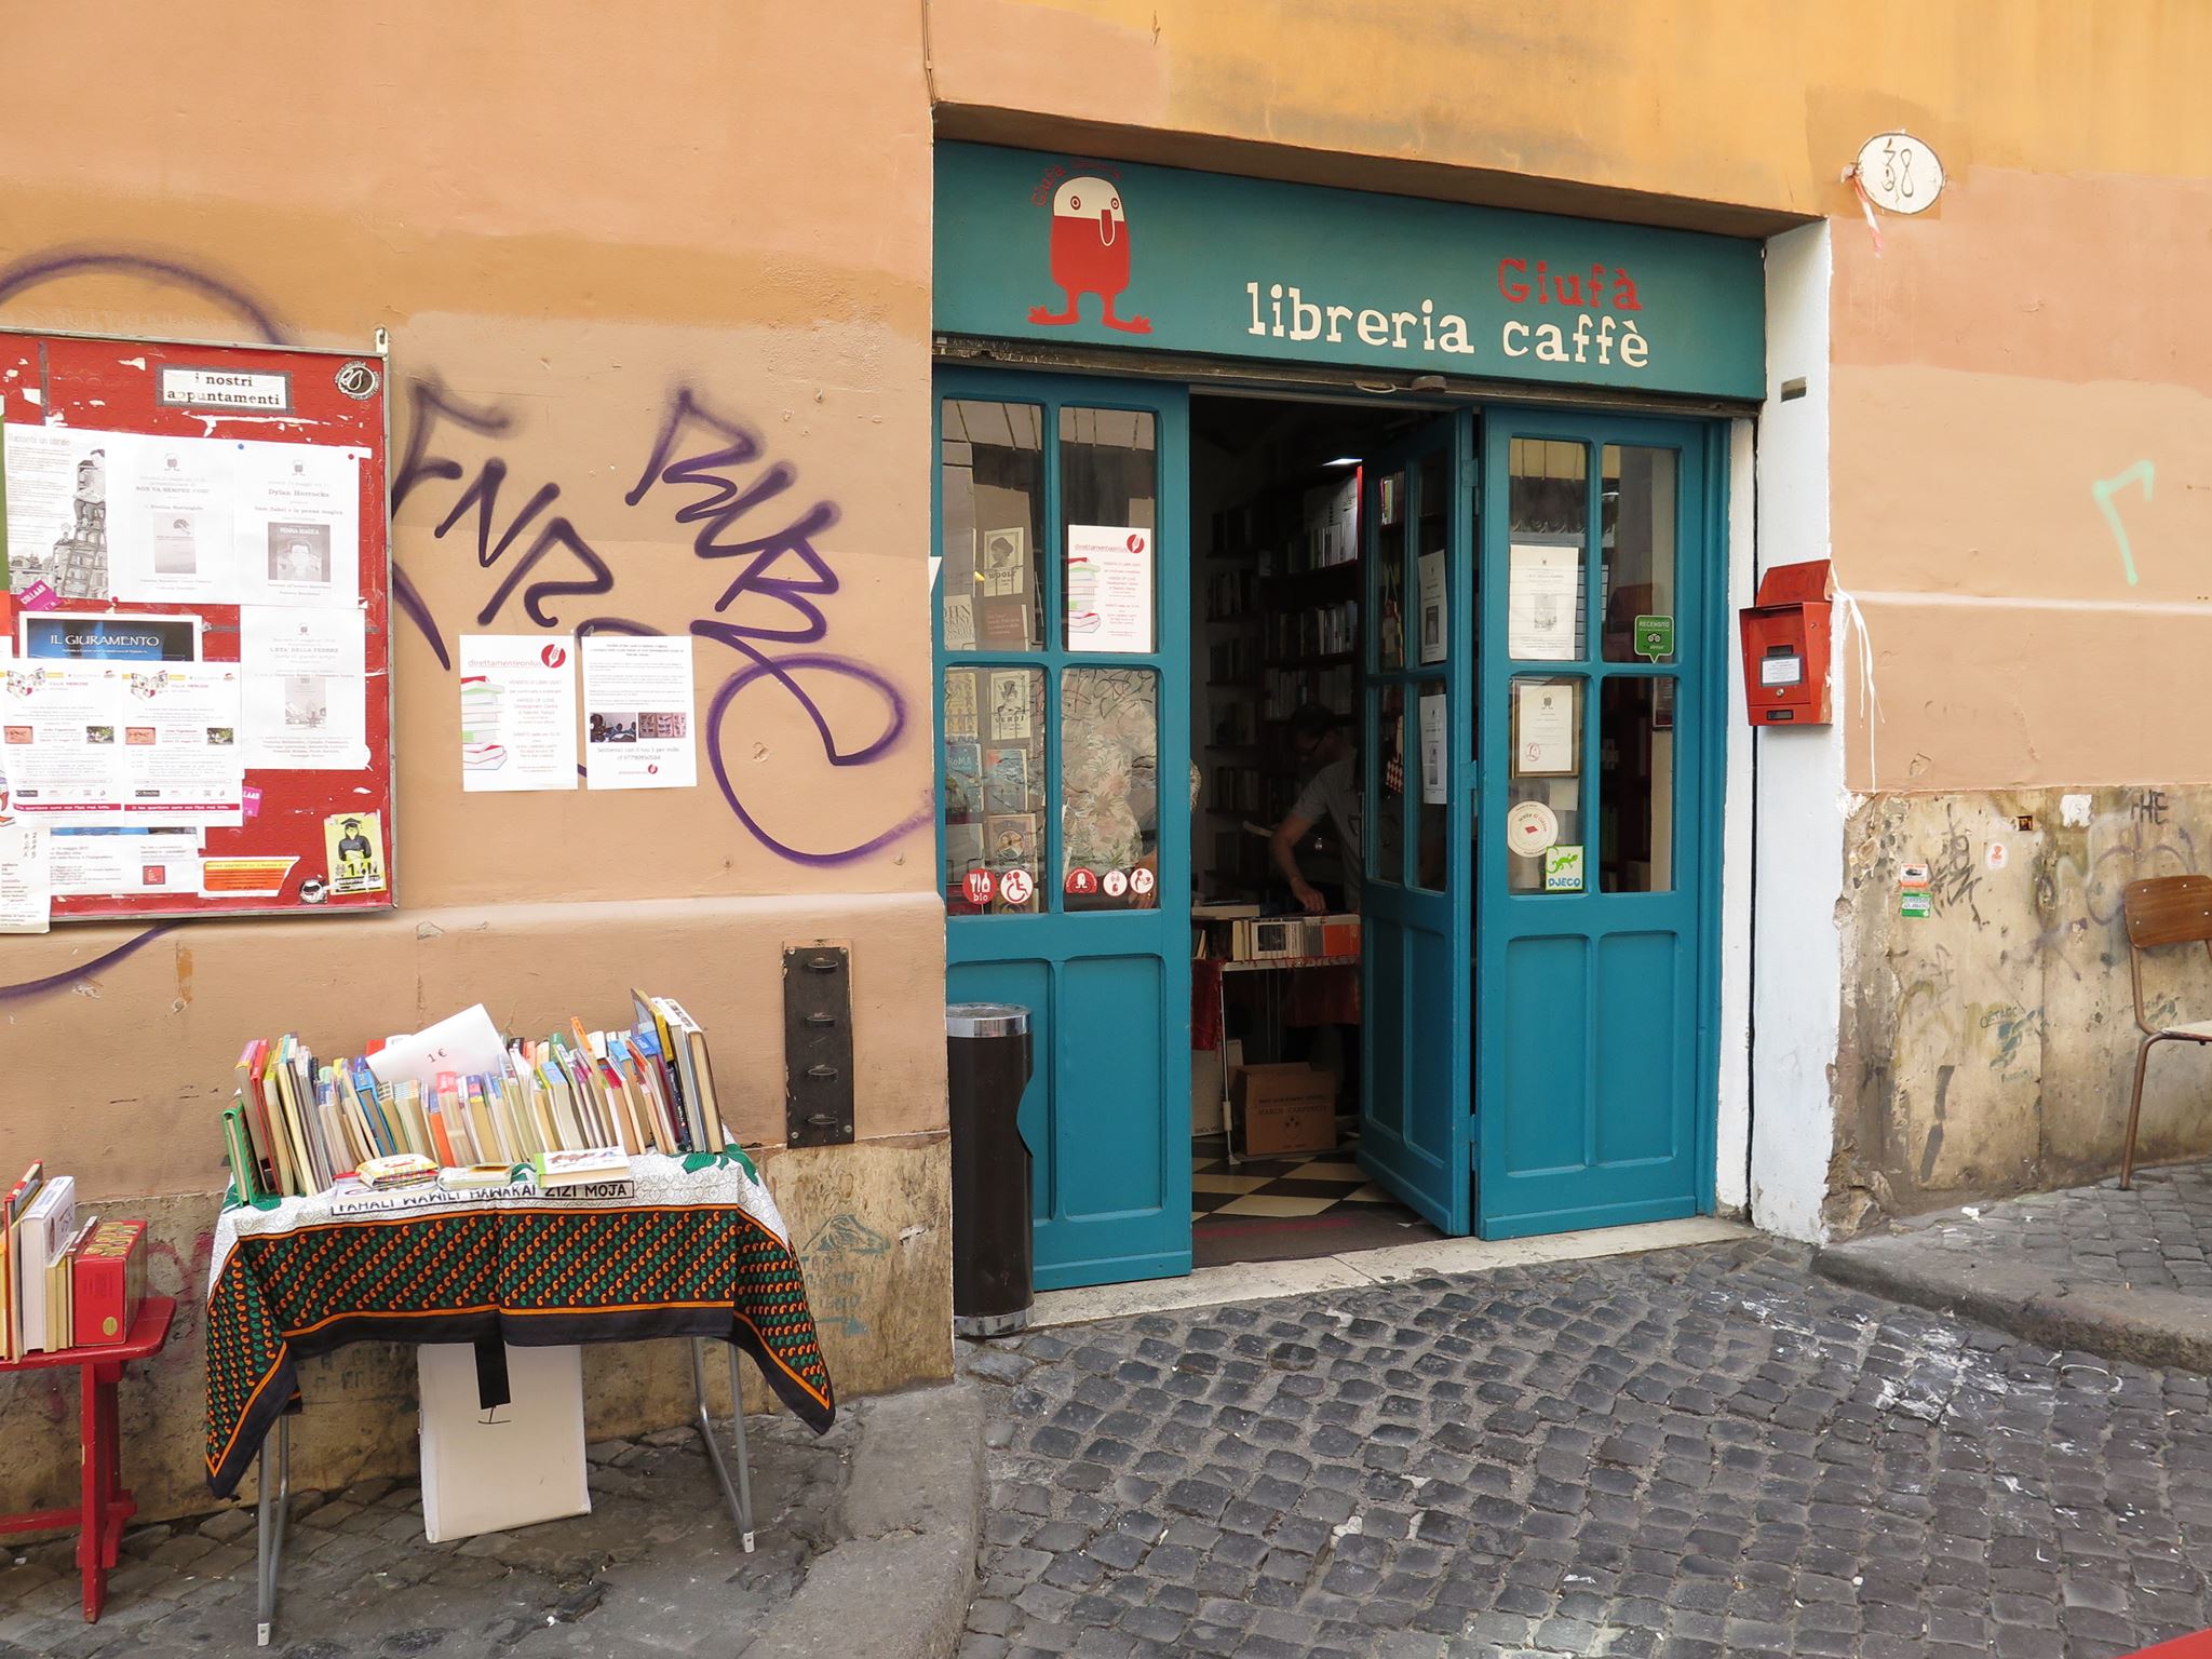
<instances>
[{"instance_id":1,"label":"teal door leaf with glass panes behind the black bin","mask_svg":"<svg viewBox=\"0 0 2212 1659\"><path fill-rule=\"evenodd\" d=\"M1031 1011L1040 1290L1190 1272L1190 418L945 369L947 998Z\"/></svg>"}]
</instances>

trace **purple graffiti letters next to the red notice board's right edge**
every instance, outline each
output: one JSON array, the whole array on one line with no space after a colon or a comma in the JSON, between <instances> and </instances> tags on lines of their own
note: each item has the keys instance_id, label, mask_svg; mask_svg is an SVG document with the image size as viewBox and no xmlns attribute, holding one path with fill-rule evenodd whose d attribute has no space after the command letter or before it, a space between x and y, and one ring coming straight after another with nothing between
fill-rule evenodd
<instances>
[{"instance_id":1,"label":"purple graffiti letters next to the red notice board's right edge","mask_svg":"<svg viewBox=\"0 0 2212 1659\"><path fill-rule=\"evenodd\" d=\"M394 513L400 511L400 502L405 502L420 484L434 478L458 482L465 476L465 469L458 460L453 460L451 456L431 453L434 431L438 431L445 425L456 425L462 431L469 431L478 438L504 438L515 425L513 416L507 414L504 409L484 409L460 403L440 383L429 378L418 378L409 383L407 411L409 411L407 453L400 458L400 465L392 476ZM493 617L498 617L500 611L507 606L507 602L513 597L515 588L522 588L522 582L544 560L566 551L573 553L575 560L591 575L571 582L555 582L555 580L531 582L526 588L522 588L522 611L529 615L529 619L535 622L540 628L557 628L560 617L546 611L546 599L562 595L591 597L599 593L613 593L615 568L604 557L599 557L597 549L593 549L591 542L584 540L584 535L575 529L575 524L568 520L566 513L555 513L546 518L542 524L538 524L538 515L544 513L560 498L560 484L553 482L540 484L531 493L531 498L522 502L515 515L507 520L507 526L498 529L493 524L493 518L500 509L500 487L507 482L507 471L509 467L502 456L491 456L489 460L480 462L476 469L476 478L467 482L467 487L460 491L460 498L451 504L451 509L447 509L447 515L438 520L436 526L431 526L431 535L445 540L447 533L451 533L451 529L473 511L476 562L480 568L489 571L493 564L504 560L509 549L535 524L535 535L529 542L529 549L522 553L520 560L513 562L507 575L500 580L500 586L493 588L491 599L484 602L484 608L476 613L476 624L489 626ZM493 535L495 531L498 535ZM398 571L398 566L394 566L394 577L400 575L403 573ZM394 582L394 591L396 588L398 582ZM416 593L411 582L407 584L407 591ZM420 602L420 595L416 595L416 602ZM438 628L436 622L429 617L429 608L425 606L422 615L416 615L416 608L405 599L403 608L407 611L409 619L414 619L414 624L425 630L431 648L438 653L438 661L451 668L453 664L445 653L445 641L438 637Z\"/></svg>"}]
</instances>

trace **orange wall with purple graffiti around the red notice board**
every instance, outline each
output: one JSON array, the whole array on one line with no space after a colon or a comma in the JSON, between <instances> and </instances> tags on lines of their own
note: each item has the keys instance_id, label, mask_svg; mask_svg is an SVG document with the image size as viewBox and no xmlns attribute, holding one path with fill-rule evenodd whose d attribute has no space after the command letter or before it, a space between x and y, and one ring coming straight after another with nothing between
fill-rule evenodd
<instances>
[{"instance_id":1,"label":"orange wall with purple graffiti around the red notice board","mask_svg":"<svg viewBox=\"0 0 2212 1659\"><path fill-rule=\"evenodd\" d=\"M832 765L805 703L768 675L730 703L719 741L757 830L723 801L706 745L697 790L465 796L453 675L394 613L400 909L190 925L75 980L137 929L0 940L0 987L64 975L44 995L0 993L0 1166L44 1155L91 1197L219 1190L215 1110L248 1035L354 1051L473 1000L524 1031L571 1013L604 1024L633 980L692 1004L726 1055L737 1126L781 1141L781 945L812 938L854 947L858 1133L942 1130L942 911L918 821L931 787L922 24L914 4L847 7L832 55L821 22L688 0L239 0L219 27L153 0L97 20L9 11L13 62L97 55L100 93L40 73L7 95L0 325L250 338L259 307L288 338L352 349L387 327L394 458L427 434L427 453L453 462L394 533L447 641L540 630L520 599L478 615L555 515L613 571L611 593L553 602L560 630L588 615L664 633L803 624L759 591L717 611L741 560L703 560L699 524L679 522L703 487L626 500L688 389L757 438L759 458L728 478L787 469L726 540L832 509L814 538L836 580L818 597L825 637L763 648L880 675L902 732L865 765ZM71 265L100 250L190 281ZM210 283L250 305L210 299ZM723 442L695 427L677 453ZM462 495L502 469L487 568ZM557 498L498 553L540 489ZM555 551L540 573L586 571ZM807 571L785 555L768 575ZM745 659L695 648L703 721ZM841 750L898 719L854 670L796 677ZM845 860L770 845L878 836Z\"/></svg>"}]
</instances>

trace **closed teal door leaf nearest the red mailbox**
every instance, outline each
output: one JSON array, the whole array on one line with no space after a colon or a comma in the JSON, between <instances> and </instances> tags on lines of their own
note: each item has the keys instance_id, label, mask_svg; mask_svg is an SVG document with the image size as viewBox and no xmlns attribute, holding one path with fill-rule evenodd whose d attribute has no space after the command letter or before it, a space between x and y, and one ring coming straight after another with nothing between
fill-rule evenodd
<instances>
[{"instance_id":1,"label":"closed teal door leaf nearest the red mailbox","mask_svg":"<svg viewBox=\"0 0 2212 1659\"><path fill-rule=\"evenodd\" d=\"M1484 1239L1712 1208L1723 449L1484 411Z\"/></svg>"}]
</instances>

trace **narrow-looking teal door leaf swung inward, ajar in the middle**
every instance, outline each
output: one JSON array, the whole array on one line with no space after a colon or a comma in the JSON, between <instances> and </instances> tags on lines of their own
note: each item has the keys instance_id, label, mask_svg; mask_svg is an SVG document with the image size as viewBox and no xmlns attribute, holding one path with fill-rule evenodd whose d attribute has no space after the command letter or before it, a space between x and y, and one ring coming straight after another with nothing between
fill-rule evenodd
<instances>
[{"instance_id":1,"label":"narrow-looking teal door leaf swung inward, ajar in the middle","mask_svg":"<svg viewBox=\"0 0 2212 1659\"><path fill-rule=\"evenodd\" d=\"M1469 1230L1473 411L1369 462L1360 1166Z\"/></svg>"}]
</instances>

